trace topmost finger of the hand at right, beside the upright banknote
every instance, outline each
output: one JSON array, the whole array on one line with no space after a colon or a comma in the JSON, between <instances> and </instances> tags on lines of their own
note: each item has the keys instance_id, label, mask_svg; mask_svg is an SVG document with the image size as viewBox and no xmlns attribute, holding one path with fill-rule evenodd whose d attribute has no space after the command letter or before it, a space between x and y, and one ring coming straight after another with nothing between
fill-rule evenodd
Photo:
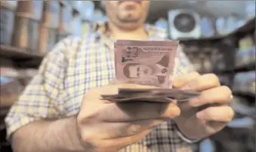
<instances>
[{"instance_id":1,"label":"topmost finger of the hand at right, beside the upright banknote","mask_svg":"<svg viewBox=\"0 0 256 152\"><path fill-rule=\"evenodd\" d=\"M183 89L203 91L220 86L220 81L215 74L204 74L189 81Z\"/></svg>"}]
</instances>

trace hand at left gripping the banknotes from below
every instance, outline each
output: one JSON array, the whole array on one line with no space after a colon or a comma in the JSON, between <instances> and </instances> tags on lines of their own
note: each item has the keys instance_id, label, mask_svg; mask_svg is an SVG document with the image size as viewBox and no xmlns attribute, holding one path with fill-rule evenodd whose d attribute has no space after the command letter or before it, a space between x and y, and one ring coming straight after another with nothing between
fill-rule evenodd
<instances>
[{"instance_id":1,"label":"hand at left gripping the banknotes from below","mask_svg":"<svg viewBox=\"0 0 256 152\"><path fill-rule=\"evenodd\" d=\"M117 84L88 91L77 117L82 144L93 152L116 152L149 134L153 127L173 119L180 108L170 103L113 103L100 95L115 94L119 88L153 88L138 84ZM87 149L88 150L88 149ZM90 152L91 152L90 151Z\"/></svg>"}]
</instances>

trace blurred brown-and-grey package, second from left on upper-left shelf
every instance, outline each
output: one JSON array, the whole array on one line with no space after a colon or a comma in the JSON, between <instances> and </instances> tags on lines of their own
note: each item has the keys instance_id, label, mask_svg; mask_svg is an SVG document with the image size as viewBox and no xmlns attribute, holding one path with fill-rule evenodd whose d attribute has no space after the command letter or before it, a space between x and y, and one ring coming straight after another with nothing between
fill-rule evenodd
<instances>
[{"instance_id":1,"label":"blurred brown-and-grey package, second from left on upper-left shelf","mask_svg":"<svg viewBox=\"0 0 256 152\"><path fill-rule=\"evenodd\" d=\"M16 14L12 45L28 49L28 53L37 54L39 42L39 21L26 14Z\"/></svg>"}]
</instances>

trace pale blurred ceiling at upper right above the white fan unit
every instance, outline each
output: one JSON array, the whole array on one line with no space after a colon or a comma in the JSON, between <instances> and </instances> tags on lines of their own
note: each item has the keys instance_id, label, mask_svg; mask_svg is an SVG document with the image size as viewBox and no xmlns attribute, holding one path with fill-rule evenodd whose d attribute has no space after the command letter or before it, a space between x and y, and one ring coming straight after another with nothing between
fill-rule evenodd
<instances>
[{"instance_id":1,"label":"pale blurred ceiling at upper right above the white fan unit","mask_svg":"<svg viewBox=\"0 0 256 152\"><path fill-rule=\"evenodd\" d=\"M226 16L237 14L240 17L245 15L246 1L151 1L149 20L155 22L159 16L166 17L171 9L188 8L197 11L199 14L210 17Z\"/></svg>"}]
</instances>

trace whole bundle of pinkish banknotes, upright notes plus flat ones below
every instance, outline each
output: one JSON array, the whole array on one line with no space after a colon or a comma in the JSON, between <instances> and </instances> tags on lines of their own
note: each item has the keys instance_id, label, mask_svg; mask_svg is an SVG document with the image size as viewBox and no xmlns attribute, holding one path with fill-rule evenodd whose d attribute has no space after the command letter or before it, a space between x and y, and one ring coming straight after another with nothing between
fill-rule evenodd
<instances>
[{"instance_id":1,"label":"whole bundle of pinkish banknotes, upright notes plus flat ones below","mask_svg":"<svg viewBox=\"0 0 256 152\"><path fill-rule=\"evenodd\" d=\"M115 95L102 95L103 99L113 102L173 102L176 99L181 102L199 96L193 90L172 88L178 44L179 41L116 41L116 79L157 89L120 88Z\"/></svg>"}]
</instances>

